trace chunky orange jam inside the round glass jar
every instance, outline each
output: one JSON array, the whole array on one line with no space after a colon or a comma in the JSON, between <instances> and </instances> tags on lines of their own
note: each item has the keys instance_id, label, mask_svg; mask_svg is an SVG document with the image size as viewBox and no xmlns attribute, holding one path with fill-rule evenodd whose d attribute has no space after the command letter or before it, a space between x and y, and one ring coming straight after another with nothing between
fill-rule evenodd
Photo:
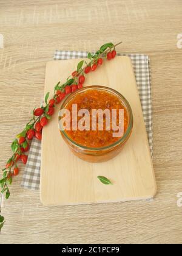
<instances>
[{"instance_id":1,"label":"chunky orange jam inside the round glass jar","mask_svg":"<svg viewBox=\"0 0 182 256\"><path fill-rule=\"evenodd\" d=\"M90 130L72 130L72 105L77 104L77 111L81 109L87 109L90 113ZM116 109L116 124L119 124L119 109L124 110L124 133L127 130L129 117L126 107L121 102L121 99L113 93L109 93L103 90L90 89L78 93L71 99L65 106L71 113L71 125L70 130L65 130L68 137L70 137L75 143L85 146L87 148L103 148L109 146L121 137L113 137L112 124L111 129L106 130L106 116L103 116L103 130L98 129L98 117L96 119L96 130L92 130L92 109L109 109L110 113L112 109ZM78 116L77 121L81 117ZM110 119L111 123L111 119Z\"/></svg>"}]
</instances>

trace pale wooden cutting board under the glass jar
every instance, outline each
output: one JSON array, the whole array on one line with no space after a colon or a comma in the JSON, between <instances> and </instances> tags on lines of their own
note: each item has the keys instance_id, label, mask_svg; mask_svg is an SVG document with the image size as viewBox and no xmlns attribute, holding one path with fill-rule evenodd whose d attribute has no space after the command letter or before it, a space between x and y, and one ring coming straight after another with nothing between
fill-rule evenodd
<instances>
[{"instance_id":1,"label":"pale wooden cutting board under the glass jar","mask_svg":"<svg viewBox=\"0 0 182 256\"><path fill-rule=\"evenodd\" d=\"M58 80L65 82L78 60L48 62L45 93ZM88 163L70 152L58 130L58 111L42 134L41 189L44 205L93 204L148 199L157 191L147 133L129 57L116 57L94 73L87 74L85 86L111 87L129 101L133 111L133 132L123 151L104 163ZM104 185L97 176L106 176L113 185Z\"/></svg>"}]
</instances>

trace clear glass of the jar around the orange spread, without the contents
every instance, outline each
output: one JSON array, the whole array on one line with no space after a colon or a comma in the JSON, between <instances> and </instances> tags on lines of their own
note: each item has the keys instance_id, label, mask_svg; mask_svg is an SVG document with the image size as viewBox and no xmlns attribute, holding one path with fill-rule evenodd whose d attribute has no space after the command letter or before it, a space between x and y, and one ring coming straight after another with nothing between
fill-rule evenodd
<instances>
[{"instance_id":1,"label":"clear glass of the jar around the orange spread, without the contents","mask_svg":"<svg viewBox=\"0 0 182 256\"><path fill-rule=\"evenodd\" d=\"M92 89L104 90L107 93L115 94L115 96L117 96L118 99L120 99L120 101L126 108L127 115L128 115L128 125L127 125L126 132L124 132L123 137L121 137L115 143L110 144L109 146L104 146L101 148L87 148L86 146L81 146L80 144L73 141L72 138L70 138L67 135L65 130L60 130L60 132L61 132L62 138L66 142L67 146L69 146L69 149L73 152L73 154L75 154L77 157L87 162L97 163L97 162L105 162L107 160L110 160L111 158L115 157L121 151L121 149L123 149L124 144L129 139L130 134L132 132L133 115L132 115L132 109L129 105L129 102L124 98L123 95L118 93L118 91L113 90L112 88L103 87L99 85L84 87L70 94L64 100L64 102L62 102L60 110L63 110L64 108L66 108L66 105L69 103L69 101L71 101L77 94L83 93L84 91L92 90ZM60 116L59 116L59 120L60 120Z\"/></svg>"}]
</instances>

